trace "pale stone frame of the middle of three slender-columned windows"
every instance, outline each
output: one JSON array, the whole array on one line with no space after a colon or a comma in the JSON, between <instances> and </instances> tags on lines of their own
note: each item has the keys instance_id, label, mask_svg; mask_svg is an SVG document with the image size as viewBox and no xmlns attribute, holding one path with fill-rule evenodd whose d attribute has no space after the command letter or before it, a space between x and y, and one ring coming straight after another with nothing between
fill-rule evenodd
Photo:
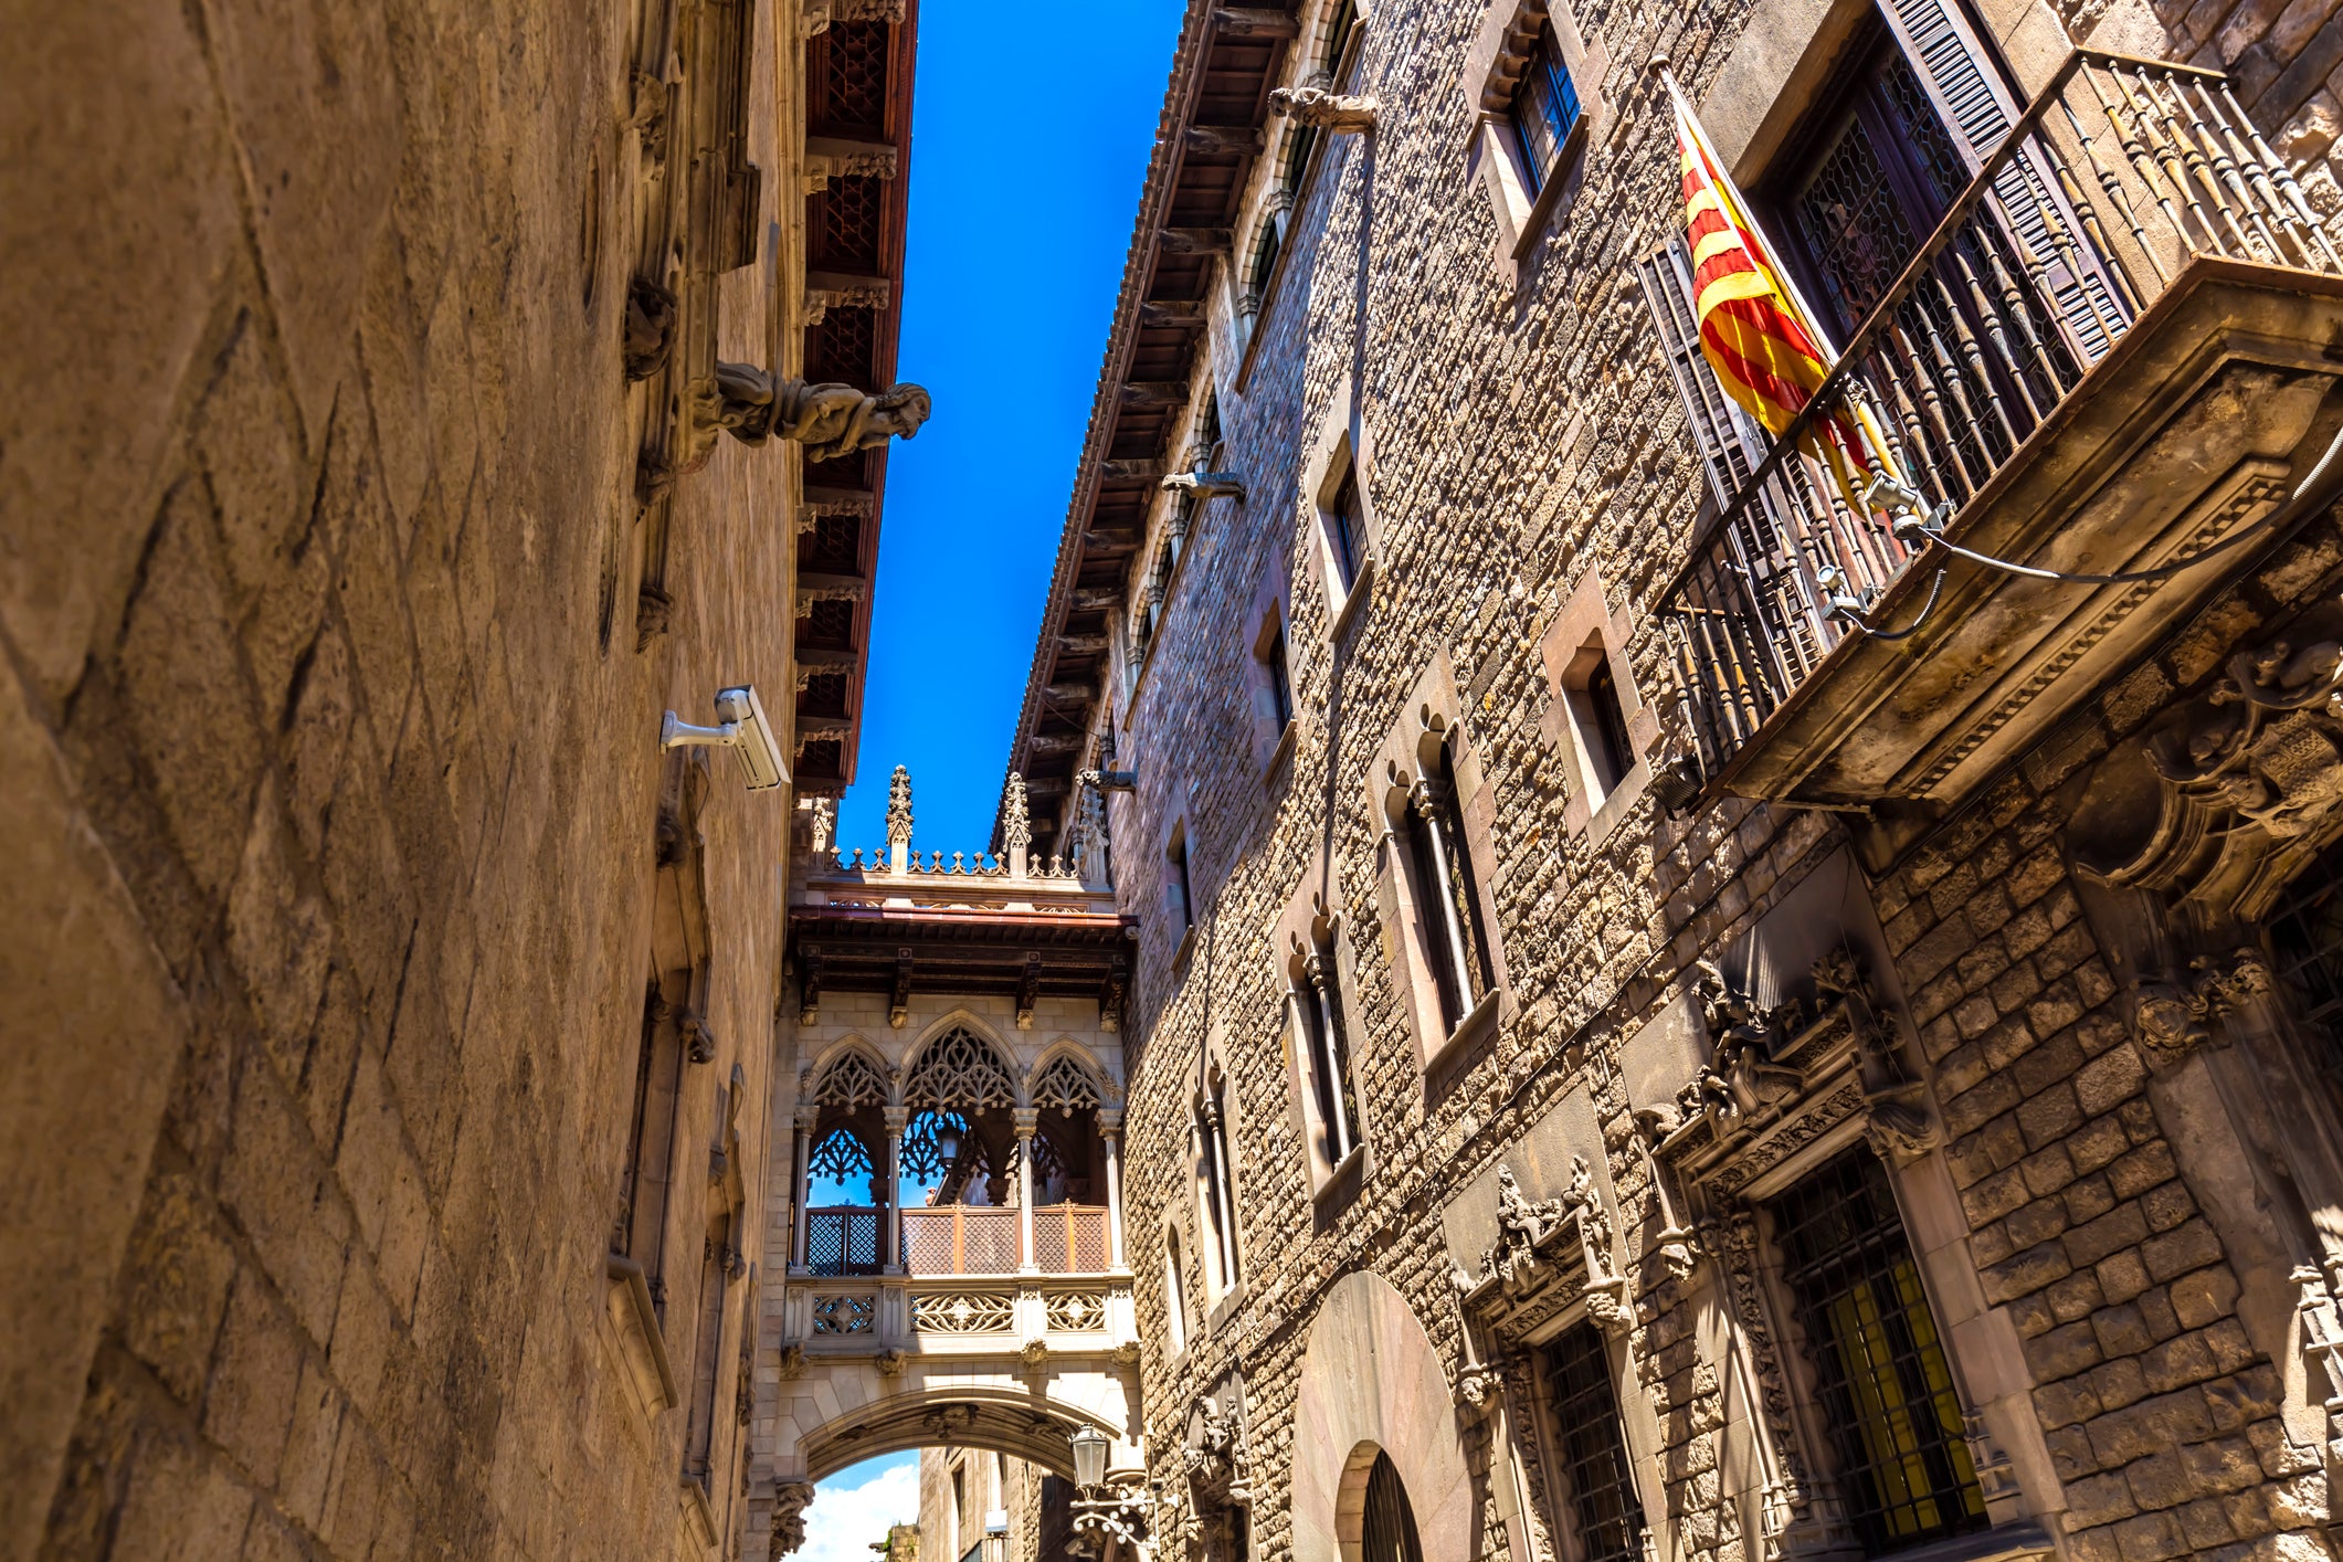
<instances>
[{"instance_id":1,"label":"pale stone frame of the middle of three slender-columned windows","mask_svg":"<svg viewBox=\"0 0 2343 1562\"><path fill-rule=\"evenodd\" d=\"M1359 1077L1359 1040L1366 1037L1366 1014L1359 1005L1359 958L1352 951L1350 925L1343 911L1343 883L1340 869L1326 857L1324 845L1312 852L1310 866L1303 871L1300 883L1286 899L1284 911L1279 911L1275 927L1270 930L1270 970L1272 981L1279 993L1286 995L1282 1005L1282 1033L1284 1033L1284 1066L1286 1066L1286 1098L1289 1115L1300 1138L1303 1147L1303 1173L1310 1180L1310 1199L1319 1211L1321 1225L1331 1220L1340 1208L1347 1206L1352 1197L1366 1185L1373 1173L1373 1133L1366 1122L1366 1089ZM1350 1155L1333 1159L1326 1152L1326 1129L1317 1108L1317 1054L1312 1047L1312 1028L1296 1005L1307 998L1300 988L1298 965L1303 951L1319 951L1333 960L1333 972L1328 974L1331 991L1328 1000L1336 1007L1336 1023L1343 1026L1343 1035L1350 1037L1350 1096L1352 1096L1352 1133L1354 1140Z\"/></svg>"}]
</instances>

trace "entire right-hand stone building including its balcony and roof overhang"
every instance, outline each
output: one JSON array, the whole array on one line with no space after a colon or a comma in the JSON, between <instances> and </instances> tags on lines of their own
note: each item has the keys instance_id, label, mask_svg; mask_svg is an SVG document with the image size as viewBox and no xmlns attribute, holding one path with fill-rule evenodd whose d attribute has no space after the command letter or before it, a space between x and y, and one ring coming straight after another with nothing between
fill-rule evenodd
<instances>
[{"instance_id":1,"label":"entire right-hand stone building including its balcony and roof overhang","mask_svg":"<svg viewBox=\"0 0 2343 1562\"><path fill-rule=\"evenodd\" d=\"M1010 756L1157 1555L2331 1553L2338 40L1190 9ZM1722 396L1661 63L1910 492Z\"/></svg>"}]
</instances>

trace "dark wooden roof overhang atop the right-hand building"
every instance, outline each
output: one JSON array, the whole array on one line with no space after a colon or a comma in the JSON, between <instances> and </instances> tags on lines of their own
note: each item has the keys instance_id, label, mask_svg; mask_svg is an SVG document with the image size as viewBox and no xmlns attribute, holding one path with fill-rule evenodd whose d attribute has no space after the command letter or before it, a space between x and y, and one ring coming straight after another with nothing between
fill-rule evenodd
<instances>
[{"instance_id":1,"label":"dark wooden roof overhang atop the right-hand building","mask_svg":"<svg viewBox=\"0 0 2343 1562\"><path fill-rule=\"evenodd\" d=\"M1270 89L1300 33L1298 9L1300 0L1256 7L1193 0L1181 28L1010 738L1007 768L1026 780L1036 836L1059 827L1082 738L1106 698L1113 616L1127 609L1157 485L1181 454L1176 440L1193 412L1188 386L1204 342L1214 262L1237 241L1244 190L1268 141Z\"/></svg>"}]
</instances>

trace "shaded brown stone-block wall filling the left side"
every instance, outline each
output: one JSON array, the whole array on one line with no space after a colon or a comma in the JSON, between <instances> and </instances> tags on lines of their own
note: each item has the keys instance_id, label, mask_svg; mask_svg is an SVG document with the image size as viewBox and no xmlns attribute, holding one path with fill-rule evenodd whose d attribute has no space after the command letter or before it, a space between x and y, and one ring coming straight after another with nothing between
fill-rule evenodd
<instances>
[{"instance_id":1,"label":"shaded brown stone-block wall filling the left side","mask_svg":"<svg viewBox=\"0 0 2343 1562\"><path fill-rule=\"evenodd\" d=\"M0 1557L682 1546L684 1412L640 1421L597 1342L656 731L787 686L750 588L790 529L783 457L717 452L672 632L597 644L633 26L94 0L5 28ZM761 66L766 166L771 103ZM761 340L757 283L733 302ZM785 813L715 773L694 1155L733 1063L761 1155Z\"/></svg>"}]
</instances>

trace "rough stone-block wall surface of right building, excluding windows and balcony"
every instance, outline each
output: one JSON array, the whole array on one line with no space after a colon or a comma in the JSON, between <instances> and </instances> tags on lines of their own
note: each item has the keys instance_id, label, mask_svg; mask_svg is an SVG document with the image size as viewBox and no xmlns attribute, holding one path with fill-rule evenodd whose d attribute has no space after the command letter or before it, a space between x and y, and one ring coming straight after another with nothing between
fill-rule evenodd
<instances>
[{"instance_id":1,"label":"rough stone-block wall surface of right building, excluding windows and balcony","mask_svg":"<svg viewBox=\"0 0 2343 1562\"><path fill-rule=\"evenodd\" d=\"M2287 14L2310 9L2315 0ZM1699 94L1741 19L1736 5L1689 19L1574 7L1579 35L1610 61L1600 89L1612 117L1596 126L1584 183L1511 286L1492 255L1485 194L1464 176L1471 126L1460 70L1478 7L1378 7L1361 89L1380 98L1382 117L1371 143L1336 143L1298 204L1242 391L1230 384L1242 344L1225 304L1216 316L1228 466L1249 496L1197 518L1129 712L1115 712L1118 763L1139 773L1136 796L1115 803L1118 876L1125 906L1146 918L1127 1232L1148 1342L1150 1450L1160 1459L1174 1447L1197 1396L1239 1375L1261 1557L1286 1555L1298 1539L1286 1471L1310 1429L1293 1424L1293 1391L1328 1283L1378 1269L1457 1363L1439 1206L1574 1089L1603 1122L1621 1229L1638 1246L1633 1234L1657 1232L1612 1054L1696 958L1743 937L1846 838L1813 810L1722 801L1666 820L1642 799L1591 841L1565 827L1567 763L1539 731L1551 698L1542 628L1584 571L1600 569L1612 609L1640 630L1696 513L1685 417L1626 269L1678 222L1671 129L1642 63L1666 52ZM2313 19L2310 35L2296 28L2287 47L2308 61L2331 33ZM2284 91L2270 84L2249 98L2273 131ZM2294 157L2317 150L2296 145ZM1354 372L1371 436L1378 578L1345 642L1328 646L1300 482ZM1303 712L1291 770L1268 777L1256 717L1237 693L1263 576L1289 590ZM1631 656L1642 700L1673 731L1657 639L1638 632ZM1378 827L1364 763L1439 651L1455 667L1464 742L1492 792L1495 937L1518 1012L1427 1077L1373 906ZM2144 719L2139 696L2123 698L2109 696L2109 710L2130 714L2109 721ZM2059 763L2078 761L2029 759L1877 885L1954 1138L1949 1164L1987 1300L2015 1316L2024 1368L2041 1384L2036 1407L2067 1487L2041 1501L2071 1510L2064 1543L2076 1557L2219 1550L2273 1532L2291 1536L2263 1548L2315 1550L2322 1515L2275 1433L2270 1363L2231 1321L2235 1276L2177 1178L2064 883L2064 820L2045 801ZM1186 958L1160 916L1174 822L1186 824L1197 902ZM1338 864L1331 899L1345 909L1357 965L1352 1049L1368 1143L1357 1197L1328 1204L1312 1201L1305 1173L1268 946L1321 845ZM1242 1286L1218 1300L1197 1262L1188 1159L1188 1103L1207 1047L1230 1080L1244 1258ZM1167 1335L1167 1225L1186 1255L1179 1354ZM1657 1262L1638 1269L1638 1293L1631 1351L1661 1426L1678 1543L1685 1555L1748 1555L1715 1515L1715 1363L1701 1358L1694 1314ZM1502 1553L1492 1522L1483 1555Z\"/></svg>"}]
</instances>

